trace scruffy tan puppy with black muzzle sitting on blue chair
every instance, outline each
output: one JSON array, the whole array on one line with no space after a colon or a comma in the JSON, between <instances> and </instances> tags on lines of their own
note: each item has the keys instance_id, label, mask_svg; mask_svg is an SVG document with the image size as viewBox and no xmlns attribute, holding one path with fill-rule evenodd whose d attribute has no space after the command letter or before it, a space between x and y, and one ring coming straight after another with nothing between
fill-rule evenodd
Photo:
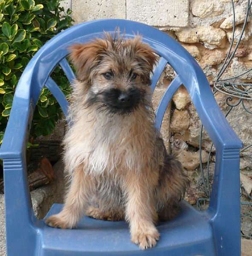
<instances>
[{"instance_id":1,"label":"scruffy tan puppy with black muzzle sitting on blue chair","mask_svg":"<svg viewBox=\"0 0 252 256\"><path fill-rule=\"evenodd\" d=\"M141 249L159 239L158 219L173 218L188 177L154 127L151 79L158 56L140 36L105 33L70 47L73 84L65 168L72 177L64 208L46 219L62 229L92 218L129 223Z\"/></svg>"}]
</instances>

